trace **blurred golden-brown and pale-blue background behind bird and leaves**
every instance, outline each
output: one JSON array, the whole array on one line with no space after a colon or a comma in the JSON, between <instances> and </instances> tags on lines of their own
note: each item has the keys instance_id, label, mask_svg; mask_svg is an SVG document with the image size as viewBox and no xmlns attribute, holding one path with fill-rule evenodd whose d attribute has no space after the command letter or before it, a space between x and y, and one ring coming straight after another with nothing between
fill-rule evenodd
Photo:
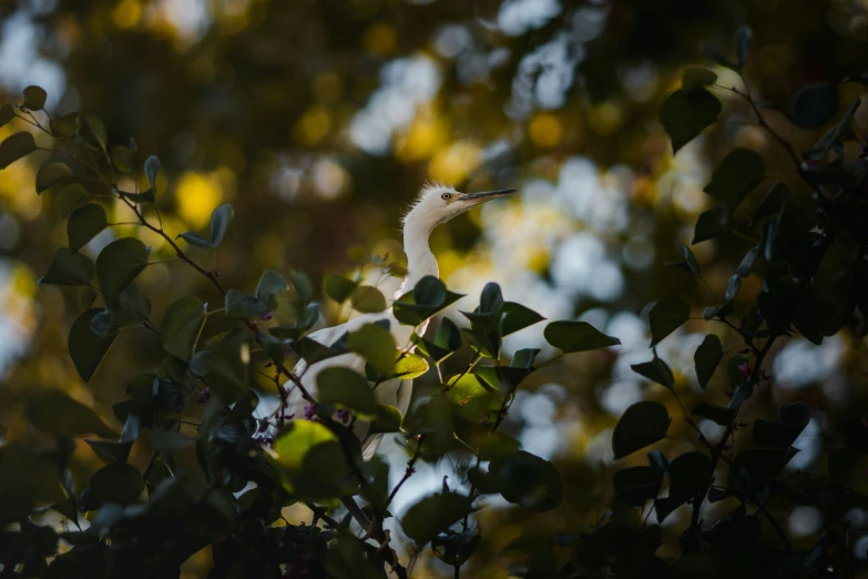
<instances>
[{"instance_id":1,"label":"blurred golden-brown and pale-blue background behind bird and leaves","mask_svg":"<svg viewBox=\"0 0 868 579\"><path fill-rule=\"evenodd\" d=\"M550 319L591 322L623 346L553 364L519 393L504 429L529 451L555 460L568 508L483 516L483 544L469 576L504 577L502 548L523 531L553 538L596 520L612 468L612 427L630 404L658 398L678 415L665 390L643 382L630 364L651 357L644 314L653 301L678 295L698 317L719 303L712 295L721 299L750 246L736 237L695 246L707 288L664 265L681 258L677 244L690 243L696 215L711 205L702 187L715 162L733 146L750 146L764 154L769 173L793 173L731 93L718 91L729 122L676 156L657 123L660 103L681 72L705 63L701 44L728 52L741 24L754 31L746 75L757 100L787 106L805 83L868 68L862 0L0 0L0 102L18 102L24 87L39 84L52 112L95 114L111 143L132 136L143 158L157 154L157 203L173 234L207 228L212 210L232 203L235 222L216 258L191 253L204 264L216 260L224 285L248 292L272 267L305 271L317 284L328 272L379 277L390 295L395 282L377 275L370 256L404 260L400 216L425 181L460 191L519 189L513 199L435 232L441 277L470 294L457 309L472 308L484 283L496 281L507 299ZM739 84L734 73L714 70L721 84ZM841 98L860 91L846 84ZM868 126L868 119L857 115L856 123ZM22 126L0 128L0 139ZM797 148L818 138L793 129L784 134ZM0 171L0 419L7 437L25 428L16 412L24 393L62 388L111 419L125 385L160 362L152 335L125 332L90 385L75 374L67 334L80 312L76 294L37 285L55 247L67 244L64 207L33 190L37 166L18 162ZM130 215L119 206L110 219ZM136 234L112 227L85 253L95 256L119 233ZM139 234L154 255L172 256L145 233ZM157 321L174 295L218 298L178 262L150 266L140 280ZM756 278L745 280L741 307L758 291ZM447 315L460 324L457 309ZM334 321L326 317L320 323ZM739 347L725 329L694 321L660 347L688 406L725 399L723 370L705 394L693 370L706 333L721 335L728 353ZM507 353L541 343L542 325L510 337ZM795 399L815 408L790 468L821 470L818 454L843 437L866 444L854 404L866 386L861 347L860 338L839 335L821 346L793 338L775 348L775 380L743 415L752 421ZM543 352L541 359L551 355ZM417 380L418 392L433 379ZM719 427L703 428L716 436ZM673 431L688 437L683 420ZM399 478L402 450L388 443L382 451ZM76 456L95 468L89 453L79 448ZM452 473L448 463L422 466L394 510ZM868 519L849 516L861 525ZM670 517L666 540L687 522ZM798 507L785 525L797 544L808 545L838 522ZM864 557L866 547L854 549ZM202 552L185 569L202 577L208 566ZM417 572L451 576L451 568L423 557Z\"/></svg>"}]
</instances>

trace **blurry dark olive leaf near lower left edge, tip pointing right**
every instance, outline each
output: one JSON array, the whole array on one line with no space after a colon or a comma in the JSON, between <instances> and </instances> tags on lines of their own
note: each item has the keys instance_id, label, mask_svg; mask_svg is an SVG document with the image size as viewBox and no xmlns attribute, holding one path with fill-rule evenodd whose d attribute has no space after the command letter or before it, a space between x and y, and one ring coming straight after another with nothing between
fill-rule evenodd
<instances>
[{"instance_id":1,"label":"blurry dark olive leaf near lower left edge, tip pointing right","mask_svg":"<svg viewBox=\"0 0 868 579\"><path fill-rule=\"evenodd\" d=\"M27 408L30 423L42 433L73 437L86 434L103 438L118 436L92 408L60 390L48 390L28 398Z\"/></svg>"}]
</instances>

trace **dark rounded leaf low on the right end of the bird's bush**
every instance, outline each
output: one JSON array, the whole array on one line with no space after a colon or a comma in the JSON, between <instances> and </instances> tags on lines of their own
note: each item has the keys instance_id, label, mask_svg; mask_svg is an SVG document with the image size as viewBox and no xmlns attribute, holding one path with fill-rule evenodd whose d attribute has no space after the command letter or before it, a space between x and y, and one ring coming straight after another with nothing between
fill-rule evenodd
<instances>
[{"instance_id":1,"label":"dark rounded leaf low on the right end of the bird's bush","mask_svg":"<svg viewBox=\"0 0 868 579\"><path fill-rule=\"evenodd\" d=\"M563 501L563 482L549 460L519 450L493 459L488 478L509 502L544 512Z\"/></svg>"}]
</instances>

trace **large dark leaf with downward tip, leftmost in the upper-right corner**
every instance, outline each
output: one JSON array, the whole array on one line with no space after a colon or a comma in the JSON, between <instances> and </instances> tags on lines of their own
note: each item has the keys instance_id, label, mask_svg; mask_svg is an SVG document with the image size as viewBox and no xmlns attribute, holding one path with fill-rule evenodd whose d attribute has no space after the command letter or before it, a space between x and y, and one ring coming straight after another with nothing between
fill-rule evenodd
<instances>
[{"instance_id":1,"label":"large dark leaf with downward tip, leftmost in the upper-right corner","mask_svg":"<svg viewBox=\"0 0 868 579\"><path fill-rule=\"evenodd\" d=\"M672 140L673 154L717 121L721 110L721 101L705 89L670 94L661 106L660 122Z\"/></svg>"}]
</instances>

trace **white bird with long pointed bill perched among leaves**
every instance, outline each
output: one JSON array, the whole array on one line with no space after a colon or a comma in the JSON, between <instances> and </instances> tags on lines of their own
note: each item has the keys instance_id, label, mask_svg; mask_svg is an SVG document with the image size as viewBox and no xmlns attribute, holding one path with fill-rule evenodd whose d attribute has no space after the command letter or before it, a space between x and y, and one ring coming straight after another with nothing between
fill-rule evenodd
<instances>
[{"instance_id":1,"label":"white bird with long pointed bill perched among leaves","mask_svg":"<svg viewBox=\"0 0 868 579\"><path fill-rule=\"evenodd\" d=\"M407 254L407 276L395 297L397 298L407 292L411 292L425 276L438 276L437 258L435 258L431 248L428 246L428 237L435 227L457 217L476 205L513 192L514 190L504 189L484 193L459 193L453 187L440 183L422 186L416 203L404 217L404 251ZM319 329L309 334L308 337L325 346L331 346L344 337L345 334L355 332L366 324L380 321L389 322L389 332L395 337L395 343L399 348L408 345L413 327L398 323L391 307L384 312L360 315L338 326ZM428 322L419 327L418 333L420 335L425 332L427 325ZM294 368L294 374L300 376L302 385L316 398L318 374L326 368L335 366L347 367L364 374L365 358L355 353L341 354L314 363L309 368L304 360L300 360ZM307 403L302 397L299 389L294 388L290 382L287 382L284 388L289 392L287 400L289 412L295 413L296 419L298 419L298 417L304 415ZM394 406L404 416L410 406L412 380L396 378L380 383L375 389L375 395L379 404ZM374 456L382 438L381 434L367 436L368 428L369 425L362 421L356 421L354 425L354 434L362 441L361 450L365 460Z\"/></svg>"}]
</instances>

